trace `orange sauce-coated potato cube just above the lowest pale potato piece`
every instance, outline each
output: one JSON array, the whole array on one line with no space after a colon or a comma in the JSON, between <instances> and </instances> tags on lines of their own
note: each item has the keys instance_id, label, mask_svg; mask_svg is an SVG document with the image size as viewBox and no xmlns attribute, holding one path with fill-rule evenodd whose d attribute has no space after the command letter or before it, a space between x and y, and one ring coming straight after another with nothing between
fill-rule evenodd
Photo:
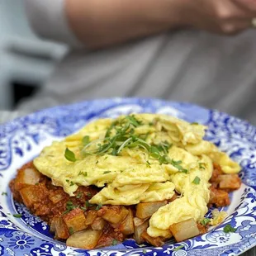
<instances>
[{"instance_id":1,"label":"orange sauce-coated potato cube just above the lowest pale potato piece","mask_svg":"<svg viewBox=\"0 0 256 256\"><path fill-rule=\"evenodd\" d=\"M63 219L68 229L72 230L73 232L85 230L88 228L83 211L79 208L69 211L69 213L64 215Z\"/></svg>"}]
</instances>

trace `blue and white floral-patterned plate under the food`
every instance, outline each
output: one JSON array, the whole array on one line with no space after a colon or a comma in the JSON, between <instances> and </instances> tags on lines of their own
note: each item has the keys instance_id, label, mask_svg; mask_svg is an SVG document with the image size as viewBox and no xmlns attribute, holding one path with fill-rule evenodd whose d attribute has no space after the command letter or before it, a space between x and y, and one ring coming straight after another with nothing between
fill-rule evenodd
<instances>
[{"instance_id":1,"label":"blue and white floral-patterned plate under the food","mask_svg":"<svg viewBox=\"0 0 256 256\"><path fill-rule=\"evenodd\" d=\"M225 222L205 235L161 248L138 245L132 239L108 249L84 250L56 241L49 227L12 200L8 188L17 168L36 157L52 140L82 128L88 121L130 112L156 112L209 126L211 140L243 167L243 185L231 195ZM238 255L256 245L256 129L246 121L192 104L155 99L115 98L54 107L0 126L0 256L1 255ZM5 194L7 192L7 195ZM21 218L12 216L20 213ZM223 232L231 224L235 233ZM180 247L183 248L178 249Z\"/></svg>"}]
</instances>

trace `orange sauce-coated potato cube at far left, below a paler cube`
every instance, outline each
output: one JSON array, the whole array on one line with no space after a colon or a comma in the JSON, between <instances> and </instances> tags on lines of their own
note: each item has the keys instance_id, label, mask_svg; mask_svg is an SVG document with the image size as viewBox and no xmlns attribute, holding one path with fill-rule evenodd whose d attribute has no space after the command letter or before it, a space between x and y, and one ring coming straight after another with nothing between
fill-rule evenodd
<instances>
[{"instance_id":1,"label":"orange sauce-coated potato cube at far left, below a paler cube","mask_svg":"<svg viewBox=\"0 0 256 256\"><path fill-rule=\"evenodd\" d=\"M29 185L27 187L23 187L20 190L20 194L24 204L27 207L33 206L36 202L40 202L40 200L45 197L41 188L36 185Z\"/></svg>"}]
</instances>

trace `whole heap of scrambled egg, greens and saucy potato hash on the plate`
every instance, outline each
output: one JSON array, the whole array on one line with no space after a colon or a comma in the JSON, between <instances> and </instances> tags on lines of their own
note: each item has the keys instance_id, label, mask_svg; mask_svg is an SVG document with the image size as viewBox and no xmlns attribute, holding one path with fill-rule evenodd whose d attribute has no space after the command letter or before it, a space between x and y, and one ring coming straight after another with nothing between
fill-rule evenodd
<instances>
[{"instance_id":1,"label":"whole heap of scrambled egg, greens and saucy potato hash on the plate","mask_svg":"<svg viewBox=\"0 0 256 256\"><path fill-rule=\"evenodd\" d=\"M160 114L92 121L20 168L13 197L78 248L192 238L224 220L206 212L241 185L239 164L205 130Z\"/></svg>"}]
</instances>

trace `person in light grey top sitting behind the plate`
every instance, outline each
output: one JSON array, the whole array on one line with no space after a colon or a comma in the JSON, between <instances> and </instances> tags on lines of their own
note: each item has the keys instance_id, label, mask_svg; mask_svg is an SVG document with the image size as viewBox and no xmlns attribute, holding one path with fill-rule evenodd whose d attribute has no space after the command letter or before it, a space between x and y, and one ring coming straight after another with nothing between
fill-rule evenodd
<instances>
[{"instance_id":1,"label":"person in light grey top sitting behind the plate","mask_svg":"<svg viewBox=\"0 0 256 256\"><path fill-rule=\"evenodd\" d=\"M25 2L36 33L71 50L20 110L100 97L159 97L256 124L254 0Z\"/></svg>"}]
</instances>

